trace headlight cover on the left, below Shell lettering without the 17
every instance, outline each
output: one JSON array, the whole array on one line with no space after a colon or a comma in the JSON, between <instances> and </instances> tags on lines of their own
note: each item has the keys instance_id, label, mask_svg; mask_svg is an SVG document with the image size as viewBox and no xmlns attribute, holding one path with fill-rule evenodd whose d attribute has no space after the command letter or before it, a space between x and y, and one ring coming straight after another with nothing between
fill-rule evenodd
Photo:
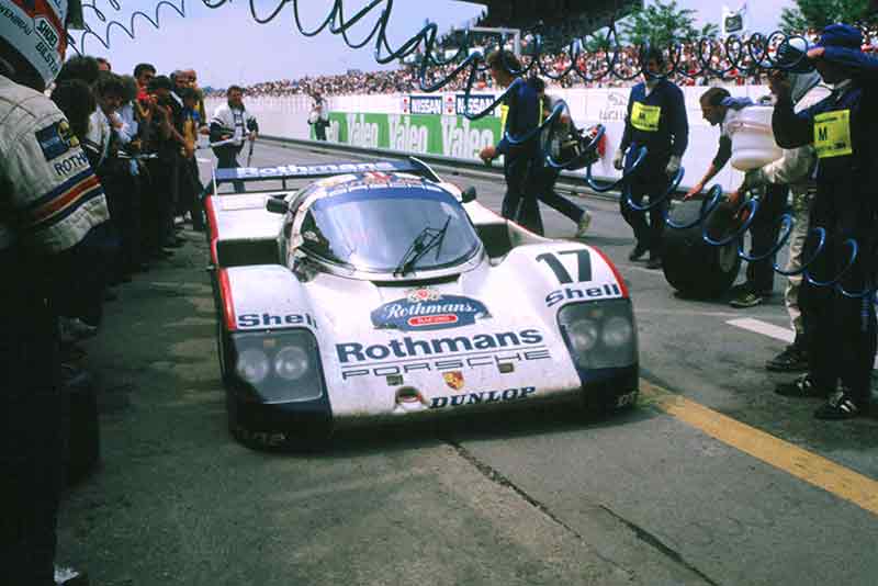
<instances>
[{"instance_id":1,"label":"headlight cover on the left, below Shell lettering without the 17","mask_svg":"<svg viewBox=\"0 0 878 586\"><path fill-rule=\"evenodd\" d=\"M234 334L232 346L236 379L260 402L304 402L323 396L323 369L311 331Z\"/></svg>"}]
</instances>

